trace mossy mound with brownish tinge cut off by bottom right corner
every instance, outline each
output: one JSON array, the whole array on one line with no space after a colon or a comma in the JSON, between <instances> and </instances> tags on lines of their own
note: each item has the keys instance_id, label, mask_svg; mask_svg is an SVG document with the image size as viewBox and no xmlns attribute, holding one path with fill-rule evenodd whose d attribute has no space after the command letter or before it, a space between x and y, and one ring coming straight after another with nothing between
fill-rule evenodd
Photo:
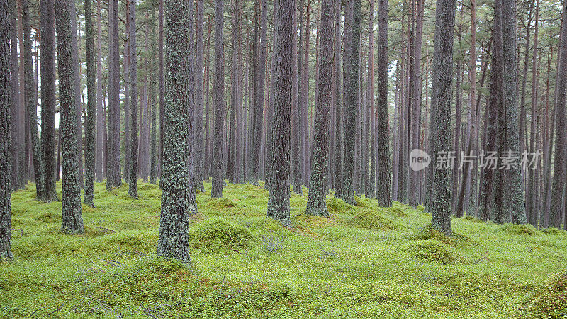
<instances>
[{"instance_id":1,"label":"mossy mound with brownish tinge cut off by bottom right corner","mask_svg":"<svg viewBox=\"0 0 567 319\"><path fill-rule=\"evenodd\" d=\"M532 318L567 318L567 273L554 276L527 307Z\"/></svg>"}]
</instances>

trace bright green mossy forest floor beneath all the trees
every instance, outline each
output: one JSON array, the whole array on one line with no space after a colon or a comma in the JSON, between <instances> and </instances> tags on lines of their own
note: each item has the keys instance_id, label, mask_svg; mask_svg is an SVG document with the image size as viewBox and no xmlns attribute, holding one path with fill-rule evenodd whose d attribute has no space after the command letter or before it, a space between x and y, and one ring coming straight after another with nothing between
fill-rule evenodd
<instances>
[{"instance_id":1,"label":"bright green mossy forest floor beneath all the trees","mask_svg":"<svg viewBox=\"0 0 567 319\"><path fill-rule=\"evenodd\" d=\"M60 184L57 185L60 191ZM454 218L454 235L401 203L350 206L292 228L266 218L267 192L229 184L197 194L191 267L155 257L160 191L140 183L83 206L86 233L60 233L61 203L12 195L13 262L0 263L0 317L22 318L563 318L567 233Z\"/></svg>"}]
</instances>

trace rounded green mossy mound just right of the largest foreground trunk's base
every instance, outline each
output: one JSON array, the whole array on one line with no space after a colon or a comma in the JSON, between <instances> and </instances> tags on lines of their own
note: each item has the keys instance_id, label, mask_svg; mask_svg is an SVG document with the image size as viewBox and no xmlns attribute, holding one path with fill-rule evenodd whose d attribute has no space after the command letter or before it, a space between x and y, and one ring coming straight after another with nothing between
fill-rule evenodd
<instances>
[{"instance_id":1,"label":"rounded green mossy mound just right of the largest foreground trunk's base","mask_svg":"<svg viewBox=\"0 0 567 319\"><path fill-rule=\"evenodd\" d=\"M246 248L252 245L253 237L242 225L224 218L210 218L199 223L191 233L191 245L211 252Z\"/></svg>"}]
</instances>

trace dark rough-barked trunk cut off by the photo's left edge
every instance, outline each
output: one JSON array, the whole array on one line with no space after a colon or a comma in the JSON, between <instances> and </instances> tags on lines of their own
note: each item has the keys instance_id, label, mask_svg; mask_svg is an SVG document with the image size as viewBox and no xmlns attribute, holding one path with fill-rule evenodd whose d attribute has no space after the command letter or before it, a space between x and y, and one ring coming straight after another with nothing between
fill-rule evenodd
<instances>
[{"instance_id":1,"label":"dark rough-barked trunk cut off by the photo's left edge","mask_svg":"<svg viewBox=\"0 0 567 319\"><path fill-rule=\"evenodd\" d=\"M11 9L9 0L0 6L0 261L12 259L10 246L10 194L11 194Z\"/></svg>"}]
</instances>

